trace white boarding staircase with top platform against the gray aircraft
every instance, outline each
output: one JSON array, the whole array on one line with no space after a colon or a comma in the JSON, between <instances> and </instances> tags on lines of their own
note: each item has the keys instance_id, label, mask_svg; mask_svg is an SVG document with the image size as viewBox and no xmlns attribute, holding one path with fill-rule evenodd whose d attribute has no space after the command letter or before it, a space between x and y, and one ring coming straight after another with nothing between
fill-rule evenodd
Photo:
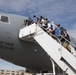
<instances>
[{"instance_id":1,"label":"white boarding staircase with top platform against the gray aircraft","mask_svg":"<svg viewBox=\"0 0 76 75\"><path fill-rule=\"evenodd\" d=\"M59 39L52 38L39 25L34 23L20 29L19 38L38 42L63 71L68 75L76 75L76 57L61 45Z\"/></svg>"}]
</instances>

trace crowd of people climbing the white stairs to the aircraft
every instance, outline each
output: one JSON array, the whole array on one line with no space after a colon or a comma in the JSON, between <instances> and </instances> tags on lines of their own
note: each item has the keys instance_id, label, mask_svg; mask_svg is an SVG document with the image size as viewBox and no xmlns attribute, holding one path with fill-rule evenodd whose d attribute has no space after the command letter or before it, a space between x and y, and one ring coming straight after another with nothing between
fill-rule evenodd
<instances>
[{"instance_id":1,"label":"crowd of people climbing the white stairs to the aircraft","mask_svg":"<svg viewBox=\"0 0 76 75\"><path fill-rule=\"evenodd\" d=\"M71 52L71 48L69 46L70 38L69 35L63 27L60 26L60 24L54 24L54 22L50 23L50 21L47 18L44 18L43 16L40 16L40 18L33 16L33 19L29 18L29 24L28 21L26 22L26 25L30 25L33 23L38 24L41 28L43 28L44 31L46 31L48 34L53 34L59 40L61 41L62 45Z\"/></svg>"}]
</instances>

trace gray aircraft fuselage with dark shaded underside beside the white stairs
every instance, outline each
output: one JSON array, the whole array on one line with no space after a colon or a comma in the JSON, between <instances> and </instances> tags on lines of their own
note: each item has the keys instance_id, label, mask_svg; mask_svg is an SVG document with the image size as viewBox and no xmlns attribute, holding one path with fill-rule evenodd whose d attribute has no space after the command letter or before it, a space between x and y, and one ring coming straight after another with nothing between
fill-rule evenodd
<instances>
[{"instance_id":1,"label":"gray aircraft fuselage with dark shaded underside beside the white stairs","mask_svg":"<svg viewBox=\"0 0 76 75\"><path fill-rule=\"evenodd\" d=\"M0 21L0 58L14 64L40 70L51 70L49 55L37 42L19 39L19 31L25 16L0 14L9 17L9 23Z\"/></svg>"}]
</instances>

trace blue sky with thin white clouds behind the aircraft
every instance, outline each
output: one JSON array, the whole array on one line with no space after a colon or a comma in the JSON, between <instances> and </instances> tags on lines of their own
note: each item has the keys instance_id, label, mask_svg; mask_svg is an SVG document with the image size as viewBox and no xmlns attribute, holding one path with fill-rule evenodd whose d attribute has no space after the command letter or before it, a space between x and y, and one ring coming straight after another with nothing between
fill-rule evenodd
<instances>
[{"instance_id":1,"label":"blue sky with thin white clouds behind the aircraft","mask_svg":"<svg viewBox=\"0 0 76 75\"><path fill-rule=\"evenodd\" d=\"M31 18L33 15L44 16L76 38L76 0L0 0L0 12ZM7 64L1 62L1 65Z\"/></svg>"}]
</instances>

